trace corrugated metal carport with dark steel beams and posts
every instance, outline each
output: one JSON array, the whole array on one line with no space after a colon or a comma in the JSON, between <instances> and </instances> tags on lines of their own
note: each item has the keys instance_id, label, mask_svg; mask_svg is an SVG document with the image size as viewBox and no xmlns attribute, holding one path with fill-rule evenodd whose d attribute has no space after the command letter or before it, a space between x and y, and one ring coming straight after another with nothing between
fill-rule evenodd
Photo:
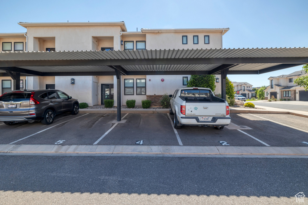
<instances>
[{"instance_id":1,"label":"corrugated metal carport with dark steel beams and posts","mask_svg":"<svg viewBox=\"0 0 308 205\"><path fill-rule=\"evenodd\" d=\"M308 63L308 48L187 49L124 51L1 52L0 76L20 89L20 76L117 77L117 120L121 120L121 75L262 74Z\"/></svg>"}]
</instances>

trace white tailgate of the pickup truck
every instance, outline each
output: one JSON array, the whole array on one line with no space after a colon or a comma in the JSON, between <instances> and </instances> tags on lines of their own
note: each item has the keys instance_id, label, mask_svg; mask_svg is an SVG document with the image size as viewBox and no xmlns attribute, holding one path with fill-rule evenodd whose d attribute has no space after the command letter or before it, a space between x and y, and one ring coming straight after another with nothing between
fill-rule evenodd
<instances>
[{"instance_id":1,"label":"white tailgate of the pickup truck","mask_svg":"<svg viewBox=\"0 0 308 205\"><path fill-rule=\"evenodd\" d=\"M186 116L225 116L225 102L188 103L185 105Z\"/></svg>"}]
</instances>

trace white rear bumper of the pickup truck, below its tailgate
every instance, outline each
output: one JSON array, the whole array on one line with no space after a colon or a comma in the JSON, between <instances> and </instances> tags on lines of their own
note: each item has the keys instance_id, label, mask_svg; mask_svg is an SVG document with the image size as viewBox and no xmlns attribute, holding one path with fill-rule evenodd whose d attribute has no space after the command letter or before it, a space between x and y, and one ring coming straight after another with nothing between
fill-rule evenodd
<instances>
[{"instance_id":1,"label":"white rear bumper of the pickup truck, below its tailgate","mask_svg":"<svg viewBox=\"0 0 308 205\"><path fill-rule=\"evenodd\" d=\"M179 122L182 125L215 125L215 126L227 126L231 122L231 117L212 117L209 121L201 121L197 116L183 116L180 117Z\"/></svg>"}]
</instances>

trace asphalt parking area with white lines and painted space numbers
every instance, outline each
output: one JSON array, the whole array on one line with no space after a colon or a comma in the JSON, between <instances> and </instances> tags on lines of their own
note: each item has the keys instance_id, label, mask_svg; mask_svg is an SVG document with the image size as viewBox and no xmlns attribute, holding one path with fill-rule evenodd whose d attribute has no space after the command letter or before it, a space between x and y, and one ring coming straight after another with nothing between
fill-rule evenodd
<instances>
[{"instance_id":1,"label":"asphalt parking area with white lines and painted space numbers","mask_svg":"<svg viewBox=\"0 0 308 205\"><path fill-rule=\"evenodd\" d=\"M308 118L284 114L231 113L223 130L182 126L173 129L169 114L62 114L51 125L0 123L0 144L308 146ZM306 143L305 143L306 142Z\"/></svg>"}]
</instances>

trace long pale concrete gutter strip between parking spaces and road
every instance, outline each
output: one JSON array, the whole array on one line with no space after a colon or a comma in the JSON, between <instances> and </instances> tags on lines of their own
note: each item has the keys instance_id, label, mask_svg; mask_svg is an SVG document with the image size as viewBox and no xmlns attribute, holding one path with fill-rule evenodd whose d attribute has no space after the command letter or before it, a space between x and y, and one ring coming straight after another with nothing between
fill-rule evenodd
<instances>
[{"instance_id":1,"label":"long pale concrete gutter strip between parking spaces and road","mask_svg":"<svg viewBox=\"0 0 308 205\"><path fill-rule=\"evenodd\" d=\"M308 156L308 147L240 146L140 146L140 145L41 145L0 144L2 153L32 154L107 154L107 156Z\"/></svg>"}]
</instances>

